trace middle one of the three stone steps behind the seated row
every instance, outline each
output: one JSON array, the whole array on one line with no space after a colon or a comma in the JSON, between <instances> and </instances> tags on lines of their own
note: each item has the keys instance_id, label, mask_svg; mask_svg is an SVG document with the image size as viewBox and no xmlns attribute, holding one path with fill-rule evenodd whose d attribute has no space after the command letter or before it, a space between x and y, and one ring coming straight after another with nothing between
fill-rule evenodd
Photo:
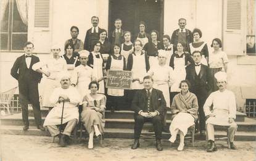
<instances>
[{"instance_id":1,"label":"middle one of the three stone steps behind the seated row","mask_svg":"<svg viewBox=\"0 0 256 161\"><path fill-rule=\"evenodd\" d=\"M29 117L30 126L35 126L35 119L33 117ZM44 118L43 118L44 121ZM167 125L170 125L171 120L167 119ZM256 131L256 120L252 118L245 118L245 122L236 122L237 123L237 131ZM22 122L22 114L14 114L9 115L7 117L1 118L1 125L23 125ZM144 129L147 129L148 124L144 124ZM134 128L134 119L128 118L105 118L105 128ZM225 130L225 128L216 127L216 130Z\"/></svg>"}]
</instances>

